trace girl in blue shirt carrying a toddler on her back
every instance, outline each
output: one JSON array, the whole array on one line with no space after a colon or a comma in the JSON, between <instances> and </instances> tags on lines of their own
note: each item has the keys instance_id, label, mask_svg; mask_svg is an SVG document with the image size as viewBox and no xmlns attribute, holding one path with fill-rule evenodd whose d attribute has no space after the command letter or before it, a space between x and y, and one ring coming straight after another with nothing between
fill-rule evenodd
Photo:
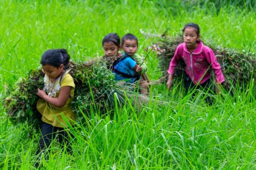
<instances>
[{"instance_id":1,"label":"girl in blue shirt carrying a toddler on her back","mask_svg":"<svg viewBox=\"0 0 256 170\"><path fill-rule=\"evenodd\" d=\"M104 57L115 56L115 62L110 67L115 73L115 80L125 80L127 83L134 83L139 80L140 74L137 70L141 71L141 67L137 65L135 60L131 56L125 56L119 53L121 48L120 38L116 33L107 34L102 40L102 46L104 49Z\"/></svg>"}]
</instances>

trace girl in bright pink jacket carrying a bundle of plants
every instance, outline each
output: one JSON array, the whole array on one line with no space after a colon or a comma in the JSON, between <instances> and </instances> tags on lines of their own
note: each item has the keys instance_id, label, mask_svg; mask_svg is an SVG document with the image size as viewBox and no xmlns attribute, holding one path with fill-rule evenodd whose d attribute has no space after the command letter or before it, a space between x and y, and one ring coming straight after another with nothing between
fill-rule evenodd
<instances>
[{"instance_id":1,"label":"girl in bright pink jacket carrying a bundle of plants","mask_svg":"<svg viewBox=\"0 0 256 170\"><path fill-rule=\"evenodd\" d=\"M212 49L199 40L199 26L189 23L183 28L183 43L177 47L168 69L168 90L172 85L172 77L177 62L182 58L186 64L186 93L193 87L207 87L210 84L210 67L216 75L216 83L225 81L220 64ZM218 88L217 88L218 91Z\"/></svg>"}]
</instances>

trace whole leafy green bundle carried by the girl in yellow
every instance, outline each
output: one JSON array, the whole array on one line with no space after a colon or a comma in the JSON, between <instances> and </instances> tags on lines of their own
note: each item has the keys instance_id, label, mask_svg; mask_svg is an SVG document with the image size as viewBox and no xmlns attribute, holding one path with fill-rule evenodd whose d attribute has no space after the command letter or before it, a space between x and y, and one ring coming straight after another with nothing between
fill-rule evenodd
<instances>
[{"instance_id":1,"label":"whole leafy green bundle carried by the girl in yellow","mask_svg":"<svg viewBox=\"0 0 256 170\"><path fill-rule=\"evenodd\" d=\"M90 115L92 109L104 114L113 111L117 105L131 103L136 108L148 102L148 97L137 97L133 85L117 83L106 65L110 64L99 58L69 63L69 73L75 81L73 112L79 122L84 120L83 115ZM42 69L30 71L27 77L15 83L13 91L3 101L5 112L13 124L27 123L38 130L36 125L40 124L40 114L36 112L36 93L44 85L43 78Z\"/></svg>"}]
</instances>

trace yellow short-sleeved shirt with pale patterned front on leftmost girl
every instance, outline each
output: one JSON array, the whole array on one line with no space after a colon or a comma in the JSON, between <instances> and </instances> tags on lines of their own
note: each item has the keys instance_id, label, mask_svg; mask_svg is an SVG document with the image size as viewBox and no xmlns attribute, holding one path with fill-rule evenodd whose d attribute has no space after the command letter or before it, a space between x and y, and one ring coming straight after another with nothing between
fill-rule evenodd
<instances>
[{"instance_id":1,"label":"yellow short-sleeved shirt with pale patterned front on leftmost girl","mask_svg":"<svg viewBox=\"0 0 256 170\"><path fill-rule=\"evenodd\" d=\"M73 77L69 75L69 73L65 73L63 75L63 79L61 79L61 83L59 81L55 82L56 85L51 85L51 81L49 81L48 77L45 75L44 77L44 90L48 91L51 86L51 92L53 91L54 96L59 96L59 89L63 86L70 86L71 92L67 102L62 108L56 107L51 103L44 101L44 99L38 99L36 104L36 108L40 114L42 114L42 122L46 122L47 124L51 124L52 126L56 126L59 128L67 127L67 123L73 124L75 121L75 114L72 112L71 109L71 101L73 100L74 93L75 93L75 83L73 81Z\"/></svg>"}]
</instances>

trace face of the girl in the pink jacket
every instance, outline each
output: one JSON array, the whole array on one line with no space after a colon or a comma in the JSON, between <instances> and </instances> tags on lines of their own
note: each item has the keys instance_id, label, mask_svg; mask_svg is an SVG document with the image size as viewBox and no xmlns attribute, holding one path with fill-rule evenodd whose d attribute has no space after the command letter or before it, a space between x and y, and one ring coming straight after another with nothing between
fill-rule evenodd
<instances>
[{"instance_id":1,"label":"face of the girl in the pink jacket","mask_svg":"<svg viewBox=\"0 0 256 170\"><path fill-rule=\"evenodd\" d=\"M197 36L195 28L188 27L184 30L183 41L187 45L187 48L195 49L197 47L197 40L199 40L199 36Z\"/></svg>"}]
</instances>

